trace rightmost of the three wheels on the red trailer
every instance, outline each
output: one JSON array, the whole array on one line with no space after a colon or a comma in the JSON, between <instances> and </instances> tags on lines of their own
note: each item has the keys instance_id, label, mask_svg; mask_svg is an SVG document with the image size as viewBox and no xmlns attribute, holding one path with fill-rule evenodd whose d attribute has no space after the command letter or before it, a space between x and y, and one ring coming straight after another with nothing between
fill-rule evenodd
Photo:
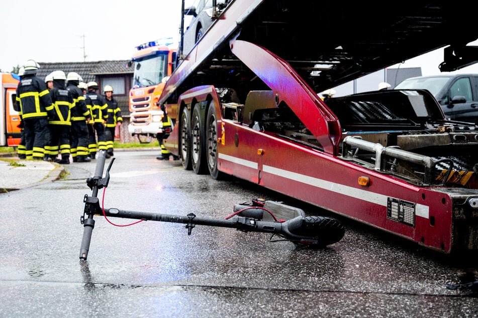
<instances>
[{"instance_id":1,"label":"rightmost of the three wheels on the red trailer","mask_svg":"<svg viewBox=\"0 0 478 318\"><path fill-rule=\"evenodd\" d=\"M206 117L206 137L208 168L211 177L215 180L224 180L226 175L218 170L218 123L216 118L216 105L209 104Z\"/></svg>"}]
</instances>

